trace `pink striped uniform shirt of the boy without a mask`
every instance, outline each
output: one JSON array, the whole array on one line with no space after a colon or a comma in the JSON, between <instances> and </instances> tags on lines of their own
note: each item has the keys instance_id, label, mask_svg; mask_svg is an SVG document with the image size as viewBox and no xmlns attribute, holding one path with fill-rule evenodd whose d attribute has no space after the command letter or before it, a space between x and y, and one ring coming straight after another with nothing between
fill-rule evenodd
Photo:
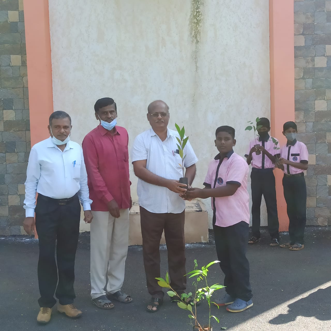
<instances>
[{"instance_id":1,"label":"pink striped uniform shirt of the boy without a mask","mask_svg":"<svg viewBox=\"0 0 331 331\"><path fill-rule=\"evenodd\" d=\"M247 162L230 151L224 159L216 155L208 167L204 185L212 188L237 183L239 188L229 197L212 198L213 224L221 227L231 226L241 221L249 223L249 194L247 192Z\"/></svg>"}]
</instances>

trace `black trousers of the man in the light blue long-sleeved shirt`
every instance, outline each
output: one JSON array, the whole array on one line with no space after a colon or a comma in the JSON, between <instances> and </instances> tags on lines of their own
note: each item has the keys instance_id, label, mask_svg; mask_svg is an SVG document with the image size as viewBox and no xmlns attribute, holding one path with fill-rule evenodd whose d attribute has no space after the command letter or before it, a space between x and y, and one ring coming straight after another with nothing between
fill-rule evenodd
<instances>
[{"instance_id":1,"label":"black trousers of the man in the light blue long-sleeved shirt","mask_svg":"<svg viewBox=\"0 0 331 331\"><path fill-rule=\"evenodd\" d=\"M61 305L72 304L80 221L78 196L66 205L59 205L55 199L38 195L35 213L39 238L39 306L52 308L56 303L54 293Z\"/></svg>"}]
</instances>

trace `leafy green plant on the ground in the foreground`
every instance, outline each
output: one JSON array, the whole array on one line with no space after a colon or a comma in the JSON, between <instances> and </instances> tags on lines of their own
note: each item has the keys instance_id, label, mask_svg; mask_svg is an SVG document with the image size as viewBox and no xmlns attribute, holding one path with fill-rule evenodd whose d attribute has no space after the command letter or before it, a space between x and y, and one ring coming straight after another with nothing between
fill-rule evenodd
<instances>
[{"instance_id":1,"label":"leafy green plant on the ground in the foreground","mask_svg":"<svg viewBox=\"0 0 331 331\"><path fill-rule=\"evenodd\" d=\"M212 317L216 320L217 323L219 323L219 319L216 316L211 315L211 303L213 303L211 301L211 297L216 290L219 290L224 286L219 284L209 286L207 282L208 268L218 262L219 261L210 262L206 266L203 266L201 270L199 270L197 260L194 260L194 269L188 272L187 275L190 275L189 278L196 277L196 281L193 283L195 285L195 294L193 300L188 303L186 302L186 299L191 297L192 293L183 293L182 295L178 295L178 293L170 286L168 272L166 272L166 279L156 278L158 280L158 284L161 287L169 289L169 291L167 291L169 297L178 297L180 299L174 300L177 301L177 306L190 312L188 317L191 319L191 324L193 326L193 330L195 331L213 331L213 327L210 323ZM204 283L204 287L198 289L198 283L201 281ZM202 300L206 300L209 305L208 324L203 324L200 318L198 320L197 303ZM226 328L222 327L221 329L225 330Z\"/></svg>"}]
</instances>

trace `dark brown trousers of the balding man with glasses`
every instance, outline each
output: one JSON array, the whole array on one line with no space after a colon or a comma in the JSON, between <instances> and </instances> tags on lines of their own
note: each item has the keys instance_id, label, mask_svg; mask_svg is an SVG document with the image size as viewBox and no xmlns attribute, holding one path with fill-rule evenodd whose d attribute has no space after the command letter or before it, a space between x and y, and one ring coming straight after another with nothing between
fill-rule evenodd
<instances>
[{"instance_id":1,"label":"dark brown trousers of the balding man with glasses","mask_svg":"<svg viewBox=\"0 0 331 331\"><path fill-rule=\"evenodd\" d=\"M153 298L163 299L164 292L155 277L160 275L160 240L165 231L170 285L178 293L186 290L185 210L179 214L151 213L140 207L143 258L147 289ZM165 275L162 275L165 278Z\"/></svg>"}]
</instances>

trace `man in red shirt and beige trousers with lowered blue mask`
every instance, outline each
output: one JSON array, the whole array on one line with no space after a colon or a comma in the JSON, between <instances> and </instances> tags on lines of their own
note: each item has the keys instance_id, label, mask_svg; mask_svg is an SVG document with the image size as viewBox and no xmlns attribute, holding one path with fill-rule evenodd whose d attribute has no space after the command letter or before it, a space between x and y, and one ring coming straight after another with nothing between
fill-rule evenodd
<instances>
[{"instance_id":1,"label":"man in red shirt and beige trousers with lowered blue mask","mask_svg":"<svg viewBox=\"0 0 331 331\"><path fill-rule=\"evenodd\" d=\"M112 309L111 300L132 301L121 292L132 206L129 137L126 129L116 125L117 108L113 99L99 99L94 110L100 125L85 136L82 144L90 199L93 200L91 297L97 307Z\"/></svg>"}]
</instances>

